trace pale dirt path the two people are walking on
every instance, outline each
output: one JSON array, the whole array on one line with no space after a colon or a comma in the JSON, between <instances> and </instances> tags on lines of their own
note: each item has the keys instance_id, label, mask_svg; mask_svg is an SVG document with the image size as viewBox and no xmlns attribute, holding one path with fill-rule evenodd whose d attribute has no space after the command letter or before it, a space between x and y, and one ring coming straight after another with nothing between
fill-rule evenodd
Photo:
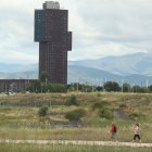
<instances>
[{"instance_id":1,"label":"pale dirt path the two people are walking on","mask_svg":"<svg viewBox=\"0 0 152 152\"><path fill-rule=\"evenodd\" d=\"M77 144L77 145L107 145L107 147L141 147L152 148L152 143L83 141L83 140L0 140L1 143L37 143L37 144Z\"/></svg>"}]
</instances>

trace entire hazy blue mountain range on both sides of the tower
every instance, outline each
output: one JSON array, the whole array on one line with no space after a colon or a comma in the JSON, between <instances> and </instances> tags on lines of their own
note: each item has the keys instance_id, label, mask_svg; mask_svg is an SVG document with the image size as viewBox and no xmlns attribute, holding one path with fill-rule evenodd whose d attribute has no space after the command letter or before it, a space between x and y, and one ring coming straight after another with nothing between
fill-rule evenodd
<instances>
[{"instance_id":1,"label":"entire hazy blue mountain range on both sides of the tower","mask_svg":"<svg viewBox=\"0 0 152 152\"><path fill-rule=\"evenodd\" d=\"M0 78L38 78L38 64L0 63ZM152 84L152 55L135 53L106 56L96 60L68 61L68 83L103 84L114 80L119 84Z\"/></svg>"}]
</instances>

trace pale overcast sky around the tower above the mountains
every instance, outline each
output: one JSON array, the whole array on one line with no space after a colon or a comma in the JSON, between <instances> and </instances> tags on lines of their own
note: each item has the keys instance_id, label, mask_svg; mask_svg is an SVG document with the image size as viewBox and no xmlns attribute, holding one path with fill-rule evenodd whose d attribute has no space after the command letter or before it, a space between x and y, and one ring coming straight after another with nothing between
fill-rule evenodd
<instances>
[{"instance_id":1,"label":"pale overcast sky around the tower above the mountains","mask_svg":"<svg viewBox=\"0 0 152 152\"><path fill-rule=\"evenodd\" d=\"M38 63L34 11L43 0L1 0L0 62ZM152 51L152 0L59 0L68 10L68 60ZM151 53L152 54L152 53Z\"/></svg>"}]
</instances>

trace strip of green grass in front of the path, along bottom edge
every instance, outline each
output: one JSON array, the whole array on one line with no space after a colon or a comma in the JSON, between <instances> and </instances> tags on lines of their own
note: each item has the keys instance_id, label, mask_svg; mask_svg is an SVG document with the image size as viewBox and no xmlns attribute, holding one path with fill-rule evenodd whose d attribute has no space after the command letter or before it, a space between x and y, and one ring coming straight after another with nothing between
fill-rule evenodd
<instances>
[{"instance_id":1,"label":"strip of green grass in front of the path, along bottom edge","mask_svg":"<svg viewBox=\"0 0 152 152\"><path fill-rule=\"evenodd\" d=\"M1 152L152 152L151 148L0 143Z\"/></svg>"}]
</instances>

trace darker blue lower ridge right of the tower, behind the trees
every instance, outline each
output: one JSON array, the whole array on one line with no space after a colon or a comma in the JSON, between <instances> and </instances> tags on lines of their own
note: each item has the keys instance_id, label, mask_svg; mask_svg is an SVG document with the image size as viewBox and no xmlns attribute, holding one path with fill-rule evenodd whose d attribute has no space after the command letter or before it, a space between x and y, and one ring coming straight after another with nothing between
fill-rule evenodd
<instances>
[{"instance_id":1,"label":"darker blue lower ridge right of the tower, behind the trees","mask_svg":"<svg viewBox=\"0 0 152 152\"><path fill-rule=\"evenodd\" d=\"M149 83L149 85L152 84L152 76L144 76L139 74L122 76L90 67L75 65L68 66L68 81L89 81L100 85L107 80L117 81L118 84L128 83L130 85L145 86L147 83Z\"/></svg>"}]
</instances>

